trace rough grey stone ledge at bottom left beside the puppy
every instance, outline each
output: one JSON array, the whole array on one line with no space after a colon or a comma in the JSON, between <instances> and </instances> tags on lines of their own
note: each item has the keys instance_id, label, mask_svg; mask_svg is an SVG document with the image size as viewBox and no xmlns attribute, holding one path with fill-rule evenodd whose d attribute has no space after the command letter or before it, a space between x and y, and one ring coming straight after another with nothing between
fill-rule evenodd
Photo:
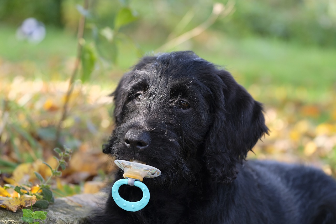
<instances>
[{"instance_id":1,"label":"rough grey stone ledge at bottom left beside the puppy","mask_svg":"<svg viewBox=\"0 0 336 224\"><path fill-rule=\"evenodd\" d=\"M103 193L98 194L77 194L70 197L56 198L47 212L46 224L89 224L89 216L97 209L97 203L104 198ZM106 196L105 196L106 198ZM82 207L81 207L82 206ZM27 207L30 209L30 207ZM42 209L35 209L41 211ZM27 224L21 220L22 210L15 213L0 208L0 224ZM43 222L40 222L42 224Z\"/></svg>"}]
</instances>

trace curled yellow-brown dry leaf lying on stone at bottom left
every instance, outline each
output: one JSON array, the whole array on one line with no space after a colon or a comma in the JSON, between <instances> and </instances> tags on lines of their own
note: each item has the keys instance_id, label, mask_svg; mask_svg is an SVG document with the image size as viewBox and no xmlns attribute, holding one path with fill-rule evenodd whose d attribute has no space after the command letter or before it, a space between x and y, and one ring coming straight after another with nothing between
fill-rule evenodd
<instances>
[{"instance_id":1,"label":"curled yellow-brown dry leaf lying on stone at bottom left","mask_svg":"<svg viewBox=\"0 0 336 224\"><path fill-rule=\"evenodd\" d=\"M35 204L36 196L30 196L27 194L21 195L18 198L12 197L0 197L0 207L9 211L16 212L17 209L23 209L24 207Z\"/></svg>"}]
</instances>

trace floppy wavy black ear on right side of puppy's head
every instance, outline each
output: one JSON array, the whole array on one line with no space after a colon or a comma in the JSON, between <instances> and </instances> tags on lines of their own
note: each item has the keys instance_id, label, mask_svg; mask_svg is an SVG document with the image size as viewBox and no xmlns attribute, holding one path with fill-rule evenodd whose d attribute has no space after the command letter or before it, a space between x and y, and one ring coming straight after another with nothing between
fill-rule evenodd
<instances>
[{"instance_id":1,"label":"floppy wavy black ear on right side of puppy's head","mask_svg":"<svg viewBox=\"0 0 336 224\"><path fill-rule=\"evenodd\" d=\"M217 182L231 183L238 174L237 164L242 163L268 128L262 106L224 70L216 74L212 85L213 115L209 128L204 157L210 175Z\"/></svg>"}]
</instances>

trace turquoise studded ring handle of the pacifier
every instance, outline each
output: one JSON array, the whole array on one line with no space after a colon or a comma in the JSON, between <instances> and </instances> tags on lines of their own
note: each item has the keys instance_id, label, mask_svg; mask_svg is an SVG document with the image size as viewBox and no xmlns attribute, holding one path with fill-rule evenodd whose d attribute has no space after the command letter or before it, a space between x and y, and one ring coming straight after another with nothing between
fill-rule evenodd
<instances>
[{"instance_id":1,"label":"turquoise studded ring handle of the pacifier","mask_svg":"<svg viewBox=\"0 0 336 224\"><path fill-rule=\"evenodd\" d=\"M143 193L142 198L139 201L134 202L126 201L119 195L119 187L124 184L127 185L127 183L128 183L127 179L120 179L113 184L112 197L114 201L120 208L129 212L136 212L139 211L140 209L143 209L148 204L150 198L148 187L140 181L134 181L134 186L142 190Z\"/></svg>"}]
</instances>

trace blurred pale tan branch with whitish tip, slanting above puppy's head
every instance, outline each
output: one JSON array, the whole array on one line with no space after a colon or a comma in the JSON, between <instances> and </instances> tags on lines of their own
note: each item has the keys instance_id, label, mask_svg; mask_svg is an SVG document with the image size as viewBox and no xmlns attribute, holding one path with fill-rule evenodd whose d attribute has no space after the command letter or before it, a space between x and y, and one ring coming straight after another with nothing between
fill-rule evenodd
<instances>
[{"instance_id":1,"label":"blurred pale tan branch with whitish tip, slanting above puppy's head","mask_svg":"<svg viewBox=\"0 0 336 224\"><path fill-rule=\"evenodd\" d=\"M234 1L228 1L226 5L223 5L221 3L215 3L212 8L212 13L210 14L209 18L205 22L195 27L194 29L188 32L185 32L184 34L168 41L167 43L165 43L164 45L162 45L155 51L158 52L158 51L164 51L167 49L172 49L175 46L187 40L190 40L193 37L200 35L202 32L208 29L212 24L214 24L220 15L223 15L223 17L225 17L230 12L232 12L232 10L234 9L234 5L235 5Z\"/></svg>"}]
</instances>

